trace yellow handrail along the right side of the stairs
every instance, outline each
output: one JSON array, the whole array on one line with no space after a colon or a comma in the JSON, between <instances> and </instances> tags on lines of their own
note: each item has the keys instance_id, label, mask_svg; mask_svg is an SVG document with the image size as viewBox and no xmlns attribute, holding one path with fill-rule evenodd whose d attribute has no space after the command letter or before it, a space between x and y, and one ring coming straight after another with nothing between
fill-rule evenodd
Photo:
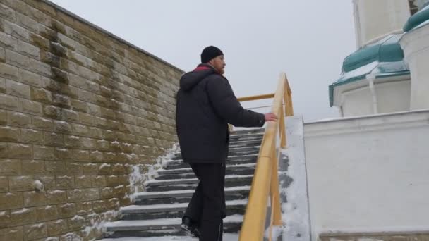
<instances>
[{"instance_id":1,"label":"yellow handrail along the right side of the stairs","mask_svg":"<svg viewBox=\"0 0 429 241\"><path fill-rule=\"evenodd\" d=\"M263 240L269 195L271 197L272 207L270 231L273 225L282 225L282 211L280 209L279 199L279 177L277 170L278 160L276 152L277 133L280 137L279 146L282 148L286 147L284 114L286 113L286 116L294 115L291 93L286 74L282 73L280 74L275 94L264 94L256 97L244 97L238 99L241 101L250 101L274 97L271 111L279 117L277 122L267 123L267 128L265 129L258 162L256 163L255 174L253 175L246 214L243 219L240 241Z\"/></svg>"}]
</instances>

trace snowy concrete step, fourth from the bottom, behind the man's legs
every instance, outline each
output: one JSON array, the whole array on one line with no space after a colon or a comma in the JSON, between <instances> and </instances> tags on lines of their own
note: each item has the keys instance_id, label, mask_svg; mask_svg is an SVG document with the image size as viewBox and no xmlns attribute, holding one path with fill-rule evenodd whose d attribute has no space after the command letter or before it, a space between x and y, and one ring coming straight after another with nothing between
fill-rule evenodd
<instances>
[{"instance_id":1,"label":"snowy concrete step, fourth from the bottom, behind the man's legs","mask_svg":"<svg viewBox=\"0 0 429 241\"><path fill-rule=\"evenodd\" d=\"M225 187L249 186L252 180L253 175L226 175ZM198 185L198 179L149 180L145 184L147 192L195 190L195 187Z\"/></svg>"}]
</instances>

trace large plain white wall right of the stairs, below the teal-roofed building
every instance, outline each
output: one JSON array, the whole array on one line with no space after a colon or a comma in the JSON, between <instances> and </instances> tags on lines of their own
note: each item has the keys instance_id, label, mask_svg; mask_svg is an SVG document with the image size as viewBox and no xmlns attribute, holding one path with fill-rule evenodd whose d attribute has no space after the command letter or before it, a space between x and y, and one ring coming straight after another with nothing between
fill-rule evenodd
<instances>
[{"instance_id":1,"label":"large plain white wall right of the stairs, below the teal-roofed building","mask_svg":"<svg viewBox=\"0 0 429 241\"><path fill-rule=\"evenodd\" d=\"M428 228L429 110L306 123L313 240Z\"/></svg>"}]
</instances>

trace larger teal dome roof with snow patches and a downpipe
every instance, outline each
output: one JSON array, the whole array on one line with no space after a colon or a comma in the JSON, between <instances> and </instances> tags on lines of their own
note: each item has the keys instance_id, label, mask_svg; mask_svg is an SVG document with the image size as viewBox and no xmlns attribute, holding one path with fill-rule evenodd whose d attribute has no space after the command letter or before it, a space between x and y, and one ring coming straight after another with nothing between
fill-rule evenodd
<instances>
[{"instance_id":1,"label":"larger teal dome roof with snow patches and a downpipe","mask_svg":"<svg viewBox=\"0 0 429 241\"><path fill-rule=\"evenodd\" d=\"M363 80L372 73L375 78L409 74L404 62L401 35L389 35L379 41L358 49L344 59L342 75L330 85L330 106L334 104L334 88L350 82Z\"/></svg>"}]
</instances>

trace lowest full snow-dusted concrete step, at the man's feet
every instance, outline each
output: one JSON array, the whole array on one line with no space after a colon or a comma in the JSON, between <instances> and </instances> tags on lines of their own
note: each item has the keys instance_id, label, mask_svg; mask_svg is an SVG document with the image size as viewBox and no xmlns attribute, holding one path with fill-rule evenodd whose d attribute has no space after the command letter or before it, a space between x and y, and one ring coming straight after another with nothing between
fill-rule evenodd
<instances>
[{"instance_id":1,"label":"lowest full snow-dusted concrete step, at the man's feet","mask_svg":"<svg viewBox=\"0 0 429 241\"><path fill-rule=\"evenodd\" d=\"M235 214L224 219L224 232L237 233L241 228L243 216ZM181 218L159 218L147 221L116 221L106 223L107 232L114 232L110 237L161 237L165 235L183 236L180 228Z\"/></svg>"}]
</instances>

